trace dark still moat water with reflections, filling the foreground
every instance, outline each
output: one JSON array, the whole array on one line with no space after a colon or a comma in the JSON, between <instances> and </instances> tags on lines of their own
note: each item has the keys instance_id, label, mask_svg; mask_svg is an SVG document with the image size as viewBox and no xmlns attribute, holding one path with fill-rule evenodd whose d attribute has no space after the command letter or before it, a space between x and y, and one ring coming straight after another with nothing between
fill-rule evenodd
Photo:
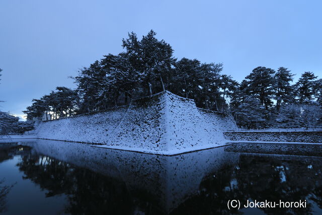
<instances>
[{"instance_id":1,"label":"dark still moat water with reflections, filling the foreground","mask_svg":"<svg viewBox=\"0 0 322 215\"><path fill-rule=\"evenodd\" d=\"M320 146L234 145L166 157L52 140L0 143L5 214L321 214ZM227 201L305 208L227 208Z\"/></svg>"}]
</instances>

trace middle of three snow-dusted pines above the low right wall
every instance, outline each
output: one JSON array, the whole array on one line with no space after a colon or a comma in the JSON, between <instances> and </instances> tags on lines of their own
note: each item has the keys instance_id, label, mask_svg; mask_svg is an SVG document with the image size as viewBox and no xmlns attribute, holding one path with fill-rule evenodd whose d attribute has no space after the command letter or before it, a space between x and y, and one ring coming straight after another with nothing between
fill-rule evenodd
<instances>
[{"instance_id":1,"label":"middle of three snow-dusted pines above the low right wall","mask_svg":"<svg viewBox=\"0 0 322 215\"><path fill-rule=\"evenodd\" d=\"M274 99L276 100L276 110L279 112L281 104L294 101L293 88L290 82L293 81L293 74L285 67L279 67L274 75Z\"/></svg>"}]
</instances>

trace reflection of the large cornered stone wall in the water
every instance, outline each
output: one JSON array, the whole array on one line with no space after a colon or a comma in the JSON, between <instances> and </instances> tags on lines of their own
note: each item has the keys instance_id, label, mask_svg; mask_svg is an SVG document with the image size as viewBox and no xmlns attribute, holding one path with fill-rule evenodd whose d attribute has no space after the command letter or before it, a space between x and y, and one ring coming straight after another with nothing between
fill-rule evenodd
<instances>
[{"instance_id":1,"label":"reflection of the large cornered stone wall in the water","mask_svg":"<svg viewBox=\"0 0 322 215\"><path fill-rule=\"evenodd\" d=\"M124 182L133 195L146 193L150 196L147 201L157 204L167 213L195 195L205 177L224 164L236 163L239 156L224 152L224 147L160 156L44 139L26 142L26 145L33 147L35 153Z\"/></svg>"}]
</instances>

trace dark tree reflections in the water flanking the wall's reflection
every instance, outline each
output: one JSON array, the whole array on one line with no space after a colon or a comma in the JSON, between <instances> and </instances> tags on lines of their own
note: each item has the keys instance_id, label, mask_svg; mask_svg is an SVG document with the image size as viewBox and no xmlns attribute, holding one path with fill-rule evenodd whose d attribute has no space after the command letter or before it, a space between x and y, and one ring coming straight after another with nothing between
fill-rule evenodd
<instances>
[{"instance_id":1,"label":"dark tree reflections in the water flanking the wall's reflection","mask_svg":"<svg viewBox=\"0 0 322 215\"><path fill-rule=\"evenodd\" d=\"M23 148L23 151L28 152L27 149ZM157 199L153 199L158 193L148 195L146 190L132 190L129 193L125 183L118 179L26 152L22 154L22 160L18 163L20 171L25 173L24 178L47 190L47 197L66 194L68 199L64 211L66 213L128 214L142 211L145 214L156 214L162 211L162 208L158 208ZM22 153L21 148L16 150L16 153ZM236 166L227 164L204 177L199 185L198 194L188 198L172 213L241 213L236 209L228 210L227 201L231 199L239 199L242 205L247 200L255 199L257 201L310 199L321 207L321 166L322 159L313 157L241 154ZM269 214L306 214L312 212L312 204L307 202L306 208L261 209Z\"/></svg>"}]
</instances>

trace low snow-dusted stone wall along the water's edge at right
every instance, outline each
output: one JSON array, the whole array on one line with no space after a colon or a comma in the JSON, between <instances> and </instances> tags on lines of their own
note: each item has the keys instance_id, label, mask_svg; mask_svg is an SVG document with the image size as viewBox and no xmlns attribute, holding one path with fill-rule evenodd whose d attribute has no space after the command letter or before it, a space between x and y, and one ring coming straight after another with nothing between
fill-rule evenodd
<instances>
[{"instance_id":1,"label":"low snow-dusted stone wall along the water's edge at right","mask_svg":"<svg viewBox=\"0 0 322 215\"><path fill-rule=\"evenodd\" d=\"M322 131L224 132L224 135L240 141L322 142Z\"/></svg>"}]
</instances>

